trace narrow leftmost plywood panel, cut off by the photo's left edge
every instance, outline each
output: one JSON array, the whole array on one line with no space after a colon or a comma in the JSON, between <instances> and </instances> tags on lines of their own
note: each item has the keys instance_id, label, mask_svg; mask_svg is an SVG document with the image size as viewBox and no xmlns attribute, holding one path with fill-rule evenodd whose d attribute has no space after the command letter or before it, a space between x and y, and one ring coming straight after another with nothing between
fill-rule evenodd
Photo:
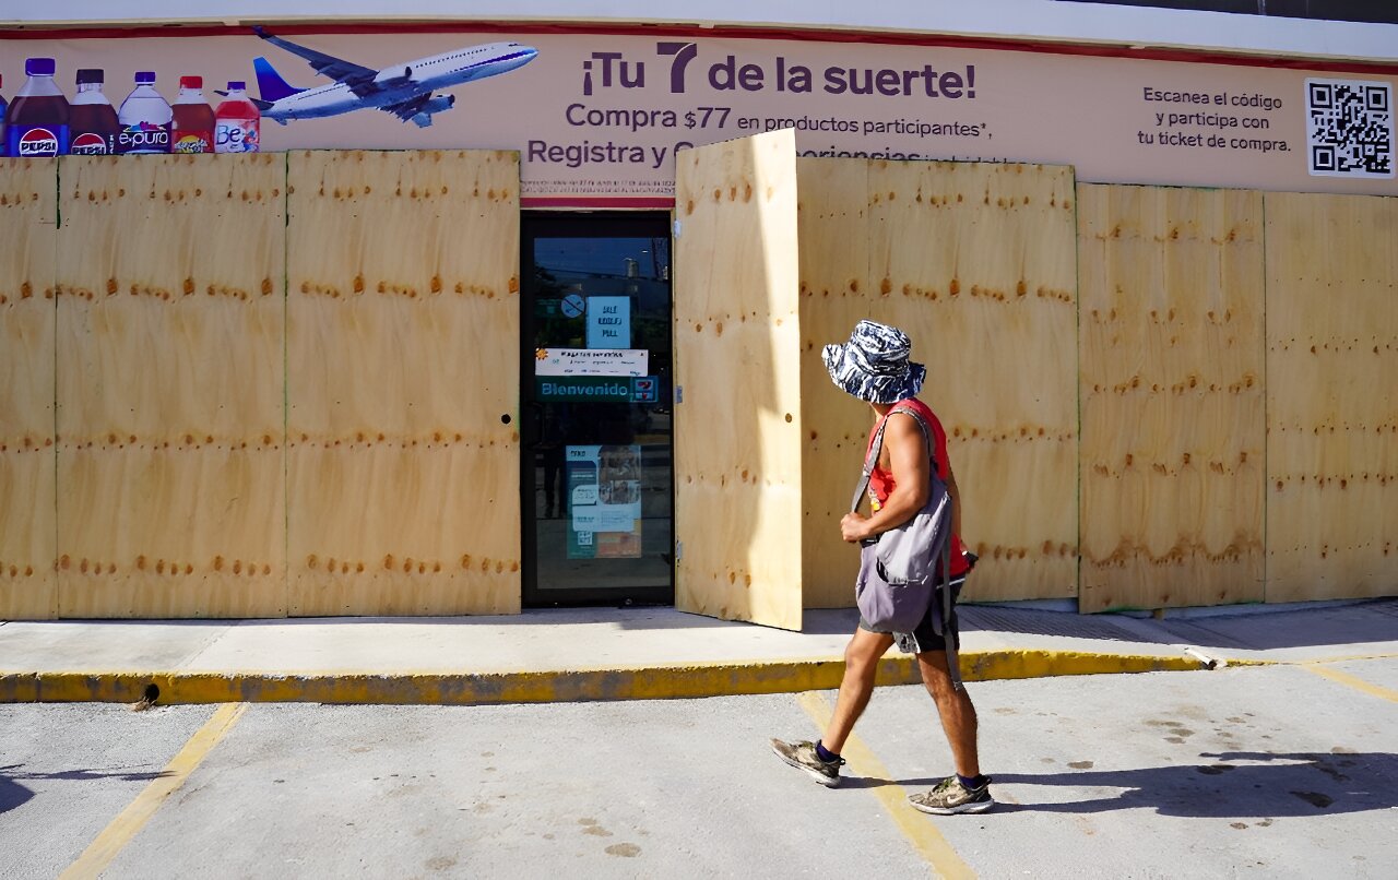
<instances>
[{"instance_id":1,"label":"narrow leftmost plywood panel, cut off by the photo's left edge","mask_svg":"<svg viewBox=\"0 0 1398 880\"><path fill-rule=\"evenodd\" d=\"M0 162L0 620L57 616L56 159Z\"/></svg>"}]
</instances>

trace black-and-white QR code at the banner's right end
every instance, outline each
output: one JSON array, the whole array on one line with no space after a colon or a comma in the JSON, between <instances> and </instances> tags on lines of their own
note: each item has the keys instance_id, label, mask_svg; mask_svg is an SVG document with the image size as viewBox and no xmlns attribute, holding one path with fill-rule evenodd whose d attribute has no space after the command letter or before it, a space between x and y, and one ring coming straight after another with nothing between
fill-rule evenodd
<instances>
[{"instance_id":1,"label":"black-and-white QR code at the banner's right end","mask_svg":"<svg viewBox=\"0 0 1398 880\"><path fill-rule=\"evenodd\" d=\"M1394 94L1374 80L1306 80L1310 173L1394 176Z\"/></svg>"}]
</instances>

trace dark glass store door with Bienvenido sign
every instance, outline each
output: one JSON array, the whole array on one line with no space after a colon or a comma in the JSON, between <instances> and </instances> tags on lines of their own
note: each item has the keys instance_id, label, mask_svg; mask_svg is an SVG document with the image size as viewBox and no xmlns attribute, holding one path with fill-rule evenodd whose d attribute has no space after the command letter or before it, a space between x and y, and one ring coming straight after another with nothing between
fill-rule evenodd
<instances>
[{"instance_id":1,"label":"dark glass store door with Bienvenido sign","mask_svg":"<svg viewBox=\"0 0 1398 880\"><path fill-rule=\"evenodd\" d=\"M524 605L674 603L668 214L524 214Z\"/></svg>"}]
</instances>

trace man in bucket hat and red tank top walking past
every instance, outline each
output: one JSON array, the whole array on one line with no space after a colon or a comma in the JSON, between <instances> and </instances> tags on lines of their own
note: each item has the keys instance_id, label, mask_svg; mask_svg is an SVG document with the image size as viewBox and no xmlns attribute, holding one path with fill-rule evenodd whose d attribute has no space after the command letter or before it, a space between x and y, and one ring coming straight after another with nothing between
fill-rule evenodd
<instances>
[{"instance_id":1,"label":"man in bucket hat and red tank top walking past","mask_svg":"<svg viewBox=\"0 0 1398 880\"><path fill-rule=\"evenodd\" d=\"M849 342L826 345L822 352L830 380L847 394L868 402L874 411L874 433L886 420L884 448L870 474L870 515L846 514L840 520L840 536L858 543L911 520L927 503L935 462L952 500L949 589L955 599L972 566L960 542L960 496L946 457L946 433L932 411L916 397L927 369L909 360L910 351L911 341L900 330L860 321ZM907 411L916 411L930 427L934 450L927 448L921 426ZM870 434L870 450L874 433ZM938 602L932 601L927 617L911 633L879 633L861 617L844 648L844 677L825 735L814 743L773 739L777 756L811 774L821 785L839 785L844 764L840 750L874 693L879 658L898 641L902 651L917 655L923 683L937 703L956 765L955 775L928 792L911 795L909 800L916 809L937 814L984 813L991 809L995 802L990 796L990 777L980 772L976 747L976 707L965 689L953 684L946 662L946 640L958 638L955 606L945 623L937 620L937 606Z\"/></svg>"}]
</instances>

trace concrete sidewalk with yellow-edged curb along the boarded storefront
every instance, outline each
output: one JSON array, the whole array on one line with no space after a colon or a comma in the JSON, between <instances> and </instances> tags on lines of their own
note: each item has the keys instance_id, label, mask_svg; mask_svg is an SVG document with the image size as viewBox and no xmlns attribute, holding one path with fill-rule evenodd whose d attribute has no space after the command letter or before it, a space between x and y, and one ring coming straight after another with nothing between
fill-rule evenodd
<instances>
[{"instance_id":1,"label":"concrete sidewalk with yellow-edged curb along the boarded storefront","mask_svg":"<svg viewBox=\"0 0 1398 880\"><path fill-rule=\"evenodd\" d=\"M1067 608L1067 605L1064 605ZM670 608L505 617L0 623L0 703L541 703L832 689L856 612L805 631ZM1079 616L962 608L967 680L1398 655L1398 599ZM891 651L881 684L916 683Z\"/></svg>"}]
</instances>

